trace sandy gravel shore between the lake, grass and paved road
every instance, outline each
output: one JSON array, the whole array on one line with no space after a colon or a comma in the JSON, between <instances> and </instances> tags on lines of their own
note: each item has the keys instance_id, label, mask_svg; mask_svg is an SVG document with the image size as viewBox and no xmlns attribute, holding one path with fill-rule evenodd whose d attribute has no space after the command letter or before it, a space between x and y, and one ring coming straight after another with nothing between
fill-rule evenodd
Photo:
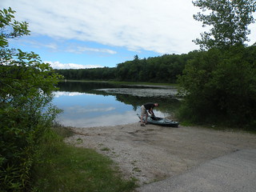
<instances>
[{"instance_id":1,"label":"sandy gravel shore between the lake, grass and paved road","mask_svg":"<svg viewBox=\"0 0 256 192\"><path fill-rule=\"evenodd\" d=\"M256 135L194 126L178 128L133 123L74 128L66 142L106 154L126 178L143 185L182 174L236 150L256 149Z\"/></svg>"}]
</instances>

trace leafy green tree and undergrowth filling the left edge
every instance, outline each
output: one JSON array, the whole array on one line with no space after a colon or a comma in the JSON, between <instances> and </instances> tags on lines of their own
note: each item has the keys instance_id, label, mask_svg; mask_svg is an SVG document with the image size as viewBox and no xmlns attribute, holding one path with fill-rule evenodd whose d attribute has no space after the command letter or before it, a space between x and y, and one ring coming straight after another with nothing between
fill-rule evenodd
<instances>
[{"instance_id":1,"label":"leafy green tree and undergrowth filling the left edge","mask_svg":"<svg viewBox=\"0 0 256 192\"><path fill-rule=\"evenodd\" d=\"M38 54L9 48L30 34L14 10L0 10L0 191L25 191L37 143L60 112L51 105L60 76Z\"/></svg>"}]
</instances>

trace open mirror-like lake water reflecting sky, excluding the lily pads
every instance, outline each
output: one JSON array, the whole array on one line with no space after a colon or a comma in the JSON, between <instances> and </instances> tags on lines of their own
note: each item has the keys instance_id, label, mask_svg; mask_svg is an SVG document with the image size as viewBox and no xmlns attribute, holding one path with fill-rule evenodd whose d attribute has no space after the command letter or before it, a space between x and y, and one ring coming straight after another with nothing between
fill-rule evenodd
<instances>
[{"instance_id":1,"label":"open mirror-like lake water reflecting sky, excluding the lily pads","mask_svg":"<svg viewBox=\"0 0 256 192\"><path fill-rule=\"evenodd\" d=\"M159 102L162 105L155 109L155 114L159 117L169 116L170 109L174 109L173 106L178 103L170 98L110 94L100 89L114 88L113 85L93 84L67 82L64 86L63 83L59 86L60 91L54 93L53 101L54 105L64 110L58 116L59 123L75 127L123 125L138 122L136 114L140 113L139 106L145 102Z\"/></svg>"}]
</instances>

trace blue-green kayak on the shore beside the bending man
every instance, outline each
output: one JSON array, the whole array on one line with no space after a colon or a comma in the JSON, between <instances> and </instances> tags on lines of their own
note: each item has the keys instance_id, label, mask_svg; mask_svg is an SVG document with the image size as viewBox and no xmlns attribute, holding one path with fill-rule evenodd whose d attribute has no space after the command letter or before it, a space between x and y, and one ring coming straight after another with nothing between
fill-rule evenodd
<instances>
[{"instance_id":1,"label":"blue-green kayak on the shore beside the bending man","mask_svg":"<svg viewBox=\"0 0 256 192\"><path fill-rule=\"evenodd\" d=\"M141 115L137 114L138 118L141 119ZM145 122L146 116L143 117L143 121ZM148 116L147 122L150 124L158 125L158 126L171 126L178 127L178 122L174 122L173 120L167 118L158 118L154 116Z\"/></svg>"}]
</instances>

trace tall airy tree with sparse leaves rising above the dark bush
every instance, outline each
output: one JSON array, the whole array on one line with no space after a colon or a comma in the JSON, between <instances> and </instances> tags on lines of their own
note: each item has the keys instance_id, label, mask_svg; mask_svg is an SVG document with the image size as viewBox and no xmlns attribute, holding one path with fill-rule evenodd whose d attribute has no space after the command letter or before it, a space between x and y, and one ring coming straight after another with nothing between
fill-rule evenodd
<instances>
[{"instance_id":1,"label":"tall airy tree with sparse leaves rising above the dark bush","mask_svg":"<svg viewBox=\"0 0 256 192\"><path fill-rule=\"evenodd\" d=\"M210 32L201 34L201 39L194 40L202 50L227 48L249 40L247 26L254 23L255 0L197 0L193 4L206 13L194 14L194 19L202 26L213 26Z\"/></svg>"}]
</instances>

